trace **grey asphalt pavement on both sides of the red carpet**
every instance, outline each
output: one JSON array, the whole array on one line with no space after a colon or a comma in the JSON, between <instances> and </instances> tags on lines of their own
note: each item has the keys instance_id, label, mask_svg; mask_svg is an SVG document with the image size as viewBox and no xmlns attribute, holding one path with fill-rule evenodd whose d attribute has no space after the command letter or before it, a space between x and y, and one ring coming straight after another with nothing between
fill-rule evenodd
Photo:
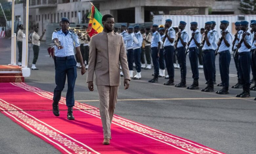
<instances>
[{"instance_id":1,"label":"grey asphalt pavement on both sides of the red carpet","mask_svg":"<svg viewBox=\"0 0 256 154\"><path fill-rule=\"evenodd\" d=\"M48 46L41 43L36 67L31 76L25 78L28 85L53 92L55 71L53 59L48 56ZM232 56L231 56L232 57ZM33 58L30 49L30 65ZM189 58L187 57L187 86L193 82ZM219 56L216 57L216 80L221 83ZM0 39L0 65L11 62L11 40ZM136 72L136 70L134 69ZM134 72L134 74L136 74ZM130 88L123 89L123 80L118 93L116 114L124 118L148 125L161 131L186 138L228 154L256 153L256 91L251 91L248 99L236 99L242 89L232 89L237 82L233 58L230 64L230 94L218 95L215 92L201 92L174 86L164 86L166 79L159 78L156 84L152 79L153 68L142 70L141 80L132 80ZM200 88L206 87L203 69L200 69ZM175 69L175 83L180 82L180 69ZM222 87L215 85L215 90ZM62 96L65 97L67 85ZM1 96L1 94L0 94ZM127 100L128 99L128 100ZM92 106L99 106L95 86L93 92L86 84L86 74L77 69L75 100ZM66 113L65 113L66 114ZM51 116L51 115L49 115ZM50 144L35 137L9 118L0 114L1 153L58 153Z\"/></svg>"}]
</instances>

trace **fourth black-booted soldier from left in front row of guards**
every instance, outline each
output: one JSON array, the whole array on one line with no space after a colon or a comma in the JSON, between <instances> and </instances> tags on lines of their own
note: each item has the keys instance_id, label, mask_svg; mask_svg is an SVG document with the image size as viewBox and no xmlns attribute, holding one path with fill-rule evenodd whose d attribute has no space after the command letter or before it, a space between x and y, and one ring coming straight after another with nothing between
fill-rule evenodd
<instances>
[{"instance_id":1,"label":"fourth black-booted soldier from left in front row of guards","mask_svg":"<svg viewBox=\"0 0 256 154\"><path fill-rule=\"evenodd\" d=\"M199 89L198 79L199 79L199 71L198 71L198 55L199 55L199 47L202 40L202 35L197 29L197 22L190 23L190 30L192 30L192 36L190 41L188 42L188 57L190 61L190 66L192 70L192 78L194 79L193 84L187 89Z\"/></svg>"}]
</instances>

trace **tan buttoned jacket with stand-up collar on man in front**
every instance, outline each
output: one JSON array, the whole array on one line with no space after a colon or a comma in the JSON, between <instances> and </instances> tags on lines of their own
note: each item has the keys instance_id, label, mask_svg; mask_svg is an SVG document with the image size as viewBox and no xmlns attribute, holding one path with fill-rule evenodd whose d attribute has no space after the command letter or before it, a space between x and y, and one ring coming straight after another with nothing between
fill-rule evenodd
<instances>
[{"instance_id":1,"label":"tan buttoned jacket with stand-up collar on man in front","mask_svg":"<svg viewBox=\"0 0 256 154\"><path fill-rule=\"evenodd\" d=\"M131 80L124 46L122 36L114 32L102 31L94 35L90 42L86 82L93 81L95 72L96 85L119 86L120 64L124 79Z\"/></svg>"}]
</instances>

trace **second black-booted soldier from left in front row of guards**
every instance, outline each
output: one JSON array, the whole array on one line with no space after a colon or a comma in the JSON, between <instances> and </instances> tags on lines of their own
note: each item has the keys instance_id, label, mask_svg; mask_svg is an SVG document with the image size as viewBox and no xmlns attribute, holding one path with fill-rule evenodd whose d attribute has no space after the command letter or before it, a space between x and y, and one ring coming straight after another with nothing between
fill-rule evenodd
<instances>
[{"instance_id":1,"label":"second black-booted soldier from left in front row of guards","mask_svg":"<svg viewBox=\"0 0 256 154\"><path fill-rule=\"evenodd\" d=\"M169 80L164 83L166 86L174 85L174 41L175 41L175 30L171 27L172 20L165 20L165 36L163 42L165 65L168 72Z\"/></svg>"}]
</instances>

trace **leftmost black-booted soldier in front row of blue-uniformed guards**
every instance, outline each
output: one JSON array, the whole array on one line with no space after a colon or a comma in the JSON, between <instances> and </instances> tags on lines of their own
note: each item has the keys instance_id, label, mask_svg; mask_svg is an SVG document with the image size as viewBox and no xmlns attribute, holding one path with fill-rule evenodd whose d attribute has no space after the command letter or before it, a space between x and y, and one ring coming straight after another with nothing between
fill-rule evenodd
<instances>
[{"instance_id":1,"label":"leftmost black-booted soldier in front row of blue-uniformed guards","mask_svg":"<svg viewBox=\"0 0 256 154\"><path fill-rule=\"evenodd\" d=\"M154 78L148 82L156 83L158 82L159 75L159 55L160 55L160 46L161 46L161 37L158 30L158 25L152 26L152 41L151 41L151 57L154 64Z\"/></svg>"}]
</instances>

